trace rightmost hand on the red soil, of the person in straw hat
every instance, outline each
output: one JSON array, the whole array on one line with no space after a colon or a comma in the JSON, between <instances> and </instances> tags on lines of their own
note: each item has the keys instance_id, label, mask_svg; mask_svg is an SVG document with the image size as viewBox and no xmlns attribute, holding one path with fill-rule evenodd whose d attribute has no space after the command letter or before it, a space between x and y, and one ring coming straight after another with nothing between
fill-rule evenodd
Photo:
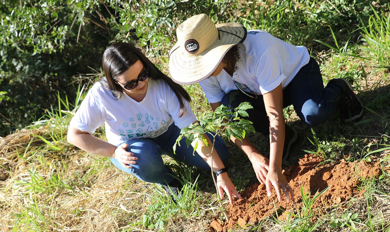
<instances>
[{"instance_id":1,"label":"rightmost hand on the red soil, of the person in straw hat","mask_svg":"<svg viewBox=\"0 0 390 232\"><path fill-rule=\"evenodd\" d=\"M270 168L268 170L268 174L266 177L266 189L268 197L272 194L272 186L276 190L279 202L282 201L282 194L280 193L280 189L282 189L284 194L286 195L287 203L289 203L290 200L294 200L293 189L291 189L291 187L287 183L286 177L282 174L282 170L275 170L274 168Z\"/></svg>"}]
</instances>

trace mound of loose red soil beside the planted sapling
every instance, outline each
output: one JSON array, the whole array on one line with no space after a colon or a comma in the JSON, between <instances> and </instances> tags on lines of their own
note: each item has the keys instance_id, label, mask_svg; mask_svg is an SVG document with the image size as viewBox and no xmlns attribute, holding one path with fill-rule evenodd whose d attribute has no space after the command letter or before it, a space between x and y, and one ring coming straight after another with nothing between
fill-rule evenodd
<instances>
[{"instance_id":1,"label":"mound of loose red soil beside the planted sapling","mask_svg":"<svg viewBox=\"0 0 390 232\"><path fill-rule=\"evenodd\" d=\"M314 202L314 208L327 207L362 194L356 189L361 177L374 177L381 174L378 163L346 162L342 159L337 164L322 165L321 161L323 160L318 156L306 155L300 159L298 165L285 169L284 174L295 194L293 202L287 203L285 199L278 202L275 189L271 197L267 197L264 184L255 184L246 189L241 193L243 199L236 200L234 205L229 206L229 221L223 223L223 230L244 227L245 224L254 224L269 215L275 215L275 207L280 209L278 215L282 215L280 216L282 218L285 217L282 211L296 211L302 207L301 186L305 193L308 194L310 191L310 198L314 197L317 191L320 192L330 186Z\"/></svg>"}]
</instances>

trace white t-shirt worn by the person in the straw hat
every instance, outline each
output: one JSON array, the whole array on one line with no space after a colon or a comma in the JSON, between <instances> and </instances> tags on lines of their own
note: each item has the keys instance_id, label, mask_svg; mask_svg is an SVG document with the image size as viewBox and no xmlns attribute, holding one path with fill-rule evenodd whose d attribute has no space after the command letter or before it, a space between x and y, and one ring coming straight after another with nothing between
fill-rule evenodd
<instances>
[{"instance_id":1,"label":"white t-shirt worn by the person in the straw hat","mask_svg":"<svg viewBox=\"0 0 390 232\"><path fill-rule=\"evenodd\" d=\"M220 102L225 93L237 85L246 92L266 94L282 83L285 88L310 55L304 46L286 43L262 30L249 30L245 41L238 45L241 59L238 70L230 76L224 69L199 84L210 103Z\"/></svg>"}]
</instances>

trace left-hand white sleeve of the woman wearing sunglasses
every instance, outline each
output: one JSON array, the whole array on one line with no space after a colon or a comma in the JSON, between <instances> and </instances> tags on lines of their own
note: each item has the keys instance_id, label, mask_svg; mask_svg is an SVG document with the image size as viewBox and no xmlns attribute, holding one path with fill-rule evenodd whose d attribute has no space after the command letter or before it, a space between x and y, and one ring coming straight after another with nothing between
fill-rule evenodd
<instances>
[{"instance_id":1,"label":"left-hand white sleeve of the woman wearing sunglasses","mask_svg":"<svg viewBox=\"0 0 390 232\"><path fill-rule=\"evenodd\" d=\"M105 120L102 116L101 104L99 104L96 97L91 94L91 90L80 104L80 108L74 114L70 125L92 135L97 128L104 124Z\"/></svg>"}]
</instances>

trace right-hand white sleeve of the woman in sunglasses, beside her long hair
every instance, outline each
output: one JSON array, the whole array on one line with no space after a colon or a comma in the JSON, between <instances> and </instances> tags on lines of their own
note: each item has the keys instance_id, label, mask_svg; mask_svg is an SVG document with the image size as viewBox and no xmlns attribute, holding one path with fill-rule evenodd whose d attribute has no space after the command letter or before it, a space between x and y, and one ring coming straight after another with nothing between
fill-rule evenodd
<instances>
[{"instance_id":1,"label":"right-hand white sleeve of the woman in sunglasses, beside her long hair","mask_svg":"<svg viewBox=\"0 0 390 232\"><path fill-rule=\"evenodd\" d=\"M171 115L172 119L175 122L175 125L182 129L185 127L188 127L191 125L191 123L195 122L197 118L195 117L194 113L191 110L190 103L183 99L184 103L184 113L181 117L180 116L180 103L179 99L177 99L177 96L175 92L167 85L167 108L168 113Z\"/></svg>"}]
</instances>

